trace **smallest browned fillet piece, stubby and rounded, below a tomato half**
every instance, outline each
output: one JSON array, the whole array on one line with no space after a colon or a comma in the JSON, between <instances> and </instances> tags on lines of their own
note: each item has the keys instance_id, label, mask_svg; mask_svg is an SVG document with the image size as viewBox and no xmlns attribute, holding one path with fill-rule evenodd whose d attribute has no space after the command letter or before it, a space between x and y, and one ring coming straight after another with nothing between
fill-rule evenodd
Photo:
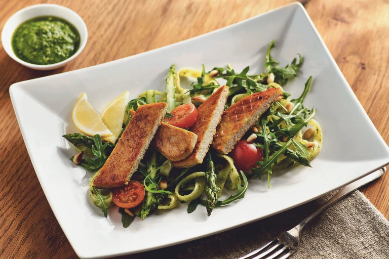
<instances>
[{"instance_id":1,"label":"smallest browned fillet piece, stubby and rounded, below a tomato half","mask_svg":"<svg viewBox=\"0 0 389 259\"><path fill-rule=\"evenodd\" d=\"M154 136L153 144L170 161L180 161L195 149L197 135L162 122Z\"/></svg>"}]
</instances>

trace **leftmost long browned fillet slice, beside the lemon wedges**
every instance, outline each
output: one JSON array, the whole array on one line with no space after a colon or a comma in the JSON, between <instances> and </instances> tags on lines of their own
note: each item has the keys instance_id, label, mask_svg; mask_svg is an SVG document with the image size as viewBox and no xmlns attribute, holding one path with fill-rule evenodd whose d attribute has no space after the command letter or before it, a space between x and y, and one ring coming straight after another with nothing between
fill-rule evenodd
<instances>
[{"instance_id":1,"label":"leftmost long browned fillet slice, beside the lemon wedges","mask_svg":"<svg viewBox=\"0 0 389 259\"><path fill-rule=\"evenodd\" d=\"M166 103L140 106L131 118L93 185L107 189L128 184L166 114Z\"/></svg>"}]
</instances>

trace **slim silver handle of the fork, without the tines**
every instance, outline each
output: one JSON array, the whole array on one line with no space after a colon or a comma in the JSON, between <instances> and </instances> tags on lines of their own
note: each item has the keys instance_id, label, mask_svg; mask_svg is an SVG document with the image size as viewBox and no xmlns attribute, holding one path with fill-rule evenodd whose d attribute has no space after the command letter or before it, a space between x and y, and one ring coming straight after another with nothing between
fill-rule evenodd
<instances>
[{"instance_id":1,"label":"slim silver handle of the fork, without the tines","mask_svg":"<svg viewBox=\"0 0 389 259\"><path fill-rule=\"evenodd\" d=\"M381 169L375 171L375 172L372 172L370 175L368 176L365 176L357 181L355 181L354 183L351 183L349 185L346 185L344 186L337 194L335 194L331 199L329 199L326 203L324 203L323 205L321 205L317 210L315 210L312 214L310 214L308 217L306 217L304 220L301 221L301 223L296 226L296 229L300 232L301 229L305 226L305 224L307 224L310 220L312 220L313 218L316 217L317 214L319 214L320 212L322 212L325 208L327 208L329 205L331 205L332 203L340 200L341 198L343 198L344 196L354 192L355 190L357 190L358 188L364 186L365 184L368 184L372 181L374 181L375 179L379 178L380 176L383 175L383 173L385 172L385 167L382 167Z\"/></svg>"}]
</instances>

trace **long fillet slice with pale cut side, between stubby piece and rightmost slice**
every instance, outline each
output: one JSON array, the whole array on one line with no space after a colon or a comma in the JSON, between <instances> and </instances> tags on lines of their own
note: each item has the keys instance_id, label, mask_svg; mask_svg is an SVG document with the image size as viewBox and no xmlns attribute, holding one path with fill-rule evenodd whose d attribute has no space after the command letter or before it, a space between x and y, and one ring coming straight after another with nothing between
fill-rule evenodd
<instances>
[{"instance_id":1,"label":"long fillet slice with pale cut side, between stubby piece and rightmost slice","mask_svg":"<svg viewBox=\"0 0 389 259\"><path fill-rule=\"evenodd\" d=\"M228 97L228 87L223 85L197 109L197 120L189 131L197 135L195 149L187 158L174 162L175 167L187 168L203 162L221 120Z\"/></svg>"}]
</instances>

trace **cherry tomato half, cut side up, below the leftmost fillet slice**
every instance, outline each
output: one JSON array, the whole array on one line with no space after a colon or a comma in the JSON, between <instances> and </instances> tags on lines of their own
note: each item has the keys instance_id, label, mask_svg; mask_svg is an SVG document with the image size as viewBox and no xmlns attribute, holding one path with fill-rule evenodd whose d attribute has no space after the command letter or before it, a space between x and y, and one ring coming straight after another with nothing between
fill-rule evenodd
<instances>
[{"instance_id":1,"label":"cherry tomato half, cut side up, below the leftmost fillet slice","mask_svg":"<svg viewBox=\"0 0 389 259\"><path fill-rule=\"evenodd\" d=\"M113 189L112 200L121 208L133 208L143 201L144 193L143 185L131 180L128 185Z\"/></svg>"}]
</instances>

